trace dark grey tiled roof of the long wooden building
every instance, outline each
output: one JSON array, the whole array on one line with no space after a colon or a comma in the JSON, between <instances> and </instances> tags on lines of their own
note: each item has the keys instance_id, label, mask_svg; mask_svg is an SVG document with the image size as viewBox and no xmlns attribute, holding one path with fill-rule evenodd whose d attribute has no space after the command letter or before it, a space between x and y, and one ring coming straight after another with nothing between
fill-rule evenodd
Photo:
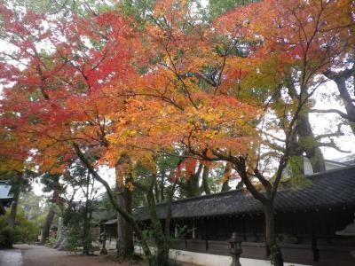
<instances>
[{"instance_id":1,"label":"dark grey tiled roof of the long wooden building","mask_svg":"<svg viewBox=\"0 0 355 266\"><path fill-rule=\"evenodd\" d=\"M355 167L338 168L307 176L309 184L280 190L275 198L276 211L355 206ZM166 204L156 207L165 217ZM172 203L172 218L260 213L263 207L244 190L222 192ZM138 220L147 220L145 207L135 210Z\"/></svg>"}]
</instances>

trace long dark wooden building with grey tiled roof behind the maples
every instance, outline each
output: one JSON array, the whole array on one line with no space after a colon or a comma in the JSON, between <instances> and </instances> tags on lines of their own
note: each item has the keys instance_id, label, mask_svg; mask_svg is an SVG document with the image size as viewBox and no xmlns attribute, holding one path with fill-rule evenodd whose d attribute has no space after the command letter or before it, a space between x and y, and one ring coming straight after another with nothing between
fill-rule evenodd
<instances>
[{"instance_id":1,"label":"long dark wooden building with grey tiled roof behind the maples","mask_svg":"<svg viewBox=\"0 0 355 266\"><path fill-rule=\"evenodd\" d=\"M351 255L355 236L343 233L354 223L355 166L307 176L306 180L298 187L284 186L275 198L275 226L284 261L355 265ZM164 223L166 205L158 205L157 213ZM149 225L146 208L136 209L135 215L142 226ZM114 237L115 221L104 225ZM243 239L242 258L266 258L263 207L245 190L174 201L170 226L173 249L230 256L228 240L235 231Z\"/></svg>"}]
</instances>

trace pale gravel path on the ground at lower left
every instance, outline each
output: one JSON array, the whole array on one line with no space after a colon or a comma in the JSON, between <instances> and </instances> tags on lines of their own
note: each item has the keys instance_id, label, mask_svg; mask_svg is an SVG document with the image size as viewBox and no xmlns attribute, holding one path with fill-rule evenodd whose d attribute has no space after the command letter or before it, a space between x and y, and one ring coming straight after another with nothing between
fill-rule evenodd
<instances>
[{"instance_id":1,"label":"pale gravel path on the ground at lower left","mask_svg":"<svg viewBox=\"0 0 355 266\"><path fill-rule=\"evenodd\" d=\"M46 246L16 245L22 253L23 266L131 266L139 263L109 262L103 256L67 254ZM12 266L8 264L6 266Z\"/></svg>"}]
</instances>

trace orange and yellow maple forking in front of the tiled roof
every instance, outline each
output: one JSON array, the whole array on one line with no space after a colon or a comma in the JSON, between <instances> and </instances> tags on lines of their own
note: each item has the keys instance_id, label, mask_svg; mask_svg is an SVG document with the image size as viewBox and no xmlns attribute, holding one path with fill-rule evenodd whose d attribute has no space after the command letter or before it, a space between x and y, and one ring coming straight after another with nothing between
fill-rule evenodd
<instances>
[{"instance_id":1,"label":"orange and yellow maple forking in front of the tiled roof","mask_svg":"<svg viewBox=\"0 0 355 266\"><path fill-rule=\"evenodd\" d=\"M263 203L267 253L280 265L273 202L288 161L300 149L311 157L319 148L305 146L312 132L302 126L309 99L325 82L319 74L341 61L337 39L349 27L337 20L341 5L264 1L211 28L183 12L184 2L157 8L145 33L154 60L109 141L167 151L183 145L201 160L232 163Z\"/></svg>"}]
</instances>

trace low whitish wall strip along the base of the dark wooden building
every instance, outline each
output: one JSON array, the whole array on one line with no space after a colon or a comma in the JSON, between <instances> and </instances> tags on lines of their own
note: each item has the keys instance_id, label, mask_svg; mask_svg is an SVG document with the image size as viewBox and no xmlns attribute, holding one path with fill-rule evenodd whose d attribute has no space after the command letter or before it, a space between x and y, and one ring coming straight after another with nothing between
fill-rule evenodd
<instances>
[{"instance_id":1,"label":"low whitish wall strip along the base of the dark wooden building","mask_svg":"<svg viewBox=\"0 0 355 266\"><path fill-rule=\"evenodd\" d=\"M150 247L152 253L154 253L155 248ZM138 254L143 254L140 246L135 246L135 252ZM195 265L201 266L228 266L232 263L232 257L230 256L222 256L216 254L204 254L204 253L196 253L184 250L176 250L170 249L170 258L177 262L188 262L193 263ZM272 265L268 261L264 260L254 260L241 258L242 266L270 266ZM295 264L295 263L284 263L285 266L309 266L304 264Z\"/></svg>"}]
</instances>

